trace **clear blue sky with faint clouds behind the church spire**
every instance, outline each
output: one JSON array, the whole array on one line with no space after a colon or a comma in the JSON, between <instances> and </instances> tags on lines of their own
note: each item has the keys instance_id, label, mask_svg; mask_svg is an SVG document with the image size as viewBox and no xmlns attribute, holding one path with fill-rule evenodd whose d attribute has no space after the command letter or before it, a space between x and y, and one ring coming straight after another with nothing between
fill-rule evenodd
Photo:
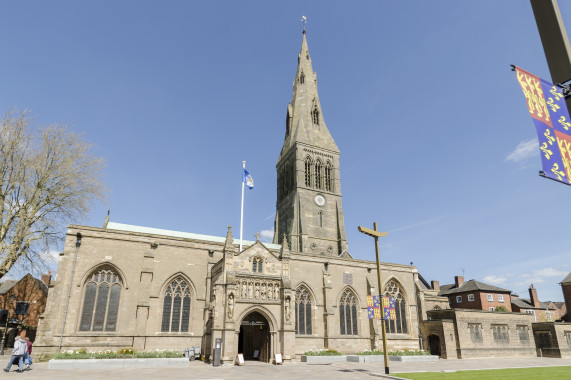
<instances>
[{"instance_id":1,"label":"clear blue sky with faint clouds behind the church spire","mask_svg":"<svg viewBox=\"0 0 571 380\"><path fill-rule=\"evenodd\" d=\"M571 4L561 2L570 25ZM0 111L68 123L106 161L111 221L244 236L273 228L302 15L341 150L349 251L427 280L464 271L561 300L571 188L538 176L510 64L550 79L527 1L5 1ZM571 27L571 26L569 26ZM531 148L530 148L531 147Z\"/></svg>"}]
</instances>

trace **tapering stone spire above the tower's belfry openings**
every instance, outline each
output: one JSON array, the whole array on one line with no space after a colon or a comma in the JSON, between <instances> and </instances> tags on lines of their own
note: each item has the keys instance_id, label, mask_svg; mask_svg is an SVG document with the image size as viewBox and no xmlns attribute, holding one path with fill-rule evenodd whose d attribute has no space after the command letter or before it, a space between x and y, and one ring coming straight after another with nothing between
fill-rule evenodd
<instances>
[{"instance_id":1,"label":"tapering stone spire above the tower's belfry openings","mask_svg":"<svg viewBox=\"0 0 571 380\"><path fill-rule=\"evenodd\" d=\"M317 91L317 73L313 71L305 30L297 56L297 72L293 81L292 99L287 108L286 136L280 157L296 142L339 153L323 118Z\"/></svg>"}]
</instances>

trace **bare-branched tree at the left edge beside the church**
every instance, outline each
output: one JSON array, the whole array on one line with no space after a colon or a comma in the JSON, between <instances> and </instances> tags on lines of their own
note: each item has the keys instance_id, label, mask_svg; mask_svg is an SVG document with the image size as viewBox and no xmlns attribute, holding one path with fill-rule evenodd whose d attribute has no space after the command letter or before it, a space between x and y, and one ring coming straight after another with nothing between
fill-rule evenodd
<instances>
[{"instance_id":1,"label":"bare-branched tree at the left edge beside the church","mask_svg":"<svg viewBox=\"0 0 571 380\"><path fill-rule=\"evenodd\" d=\"M41 266L65 225L103 194L103 162L88 144L65 126L30 122L26 111L0 122L0 278L21 259Z\"/></svg>"}]
</instances>

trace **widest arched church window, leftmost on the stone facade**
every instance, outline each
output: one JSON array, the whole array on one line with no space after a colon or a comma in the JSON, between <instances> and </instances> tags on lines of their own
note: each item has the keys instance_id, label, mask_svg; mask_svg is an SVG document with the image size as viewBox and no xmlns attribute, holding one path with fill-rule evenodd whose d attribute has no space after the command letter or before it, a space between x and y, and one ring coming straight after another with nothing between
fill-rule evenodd
<instances>
[{"instance_id":1,"label":"widest arched church window, leftmost on the stone facade","mask_svg":"<svg viewBox=\"0 0 571 380\"><path fill-rule=\"evenodd\" d=\"M85 284L80 331L116 330L122 287L113 269L103 267L93 272Z\"/></svg>"}]
</instances>

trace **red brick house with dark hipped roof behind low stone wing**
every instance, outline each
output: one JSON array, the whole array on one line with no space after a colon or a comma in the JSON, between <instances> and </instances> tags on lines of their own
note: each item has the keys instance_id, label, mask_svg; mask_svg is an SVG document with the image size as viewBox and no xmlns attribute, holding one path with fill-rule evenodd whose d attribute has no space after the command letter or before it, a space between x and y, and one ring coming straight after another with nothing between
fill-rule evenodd
<instances>
[{"instance_id":1,"label":"red brick house with dark hipped roof behind low stone wing","mask_svg":"<svg viewBox=\"0 0 571 380\"><path fill-rule=\"evenodd\" d=\"M439 289L439 296L448 297L453 309L494 311L502 306L505 311L512 311L511 291L507 289L476 280L464 282L462 276L454 276L453 284L439 285L437 281L433 281L432 285L433 288Z\"/></svg>"}]
</instances>

